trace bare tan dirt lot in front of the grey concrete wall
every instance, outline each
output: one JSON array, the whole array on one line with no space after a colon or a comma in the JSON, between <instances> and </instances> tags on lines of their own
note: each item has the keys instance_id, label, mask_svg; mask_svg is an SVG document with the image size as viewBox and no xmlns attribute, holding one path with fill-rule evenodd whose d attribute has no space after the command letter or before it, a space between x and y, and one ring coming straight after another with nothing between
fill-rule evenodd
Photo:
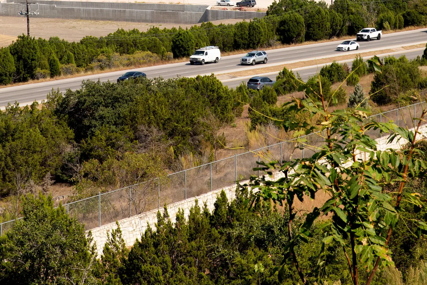
<instances>
[{"instance_id":1,"label":"bare tan dirt lot in front of the grey concrete wall","mask_svg":"<svg viewBox=\"0 0 427 285\"><path fill-rule=\"evenodd\" d=\"M242 19L228 19L213 21L213 24L234 24ZM197 24L200 25L200 24ZM79 41L85 35L105 36L117 29L139 29L146 31L152 26L160 29L181 26L183 28L193 25L179 24L155 24L155 23L135 23L135 22L115 22L115 21L89 21L89 20L69 20L36 18L30 19L30 34L36 38L50 38L58 36L67 41ZM7 46L16 39L17 35L26 34L26 18L21 17L0 17L0 47Z\"/></svg>"}]
</instances>

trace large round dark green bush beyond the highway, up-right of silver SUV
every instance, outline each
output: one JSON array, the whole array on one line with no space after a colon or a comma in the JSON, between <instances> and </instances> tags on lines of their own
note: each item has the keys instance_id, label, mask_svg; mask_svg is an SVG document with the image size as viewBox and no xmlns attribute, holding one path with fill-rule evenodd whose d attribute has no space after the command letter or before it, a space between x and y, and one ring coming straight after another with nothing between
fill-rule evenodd
<instances>
[{"instance_id":1,"label":"large round dark green bush beyond the highway, up-right of silver SUV","mask_svg":"<svg viewBox=\"0 0 427 285\"><path fill-rule=\"evenodd\" d=\"M282 44L303 42L305 34L304 19L295 12L285 14L278 24L277 34Z\"/></svg>"}]
</instances>

